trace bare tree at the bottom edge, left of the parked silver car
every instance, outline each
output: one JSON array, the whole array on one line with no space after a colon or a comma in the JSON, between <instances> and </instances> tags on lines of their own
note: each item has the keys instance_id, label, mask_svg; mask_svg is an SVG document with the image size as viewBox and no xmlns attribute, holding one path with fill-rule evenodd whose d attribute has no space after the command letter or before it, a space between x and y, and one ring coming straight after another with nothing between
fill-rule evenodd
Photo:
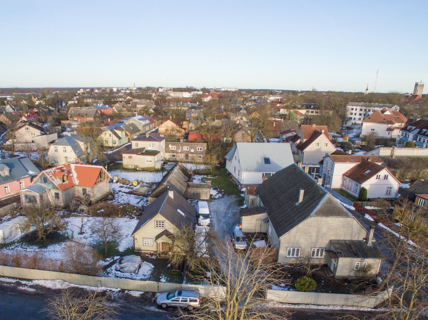
<instances>
[{"instance_id":1,"label":"bare tree at the bottom edge, left of the parked silver car","mask_svg":"<svg viewBox=\"0 0 428 320\"><path fill-rule=\"evenodd\" d=\"M109 320L117 314L98 292L62 291L48 302L44 311L53 320Z\"/></svg>"}]
</instances>

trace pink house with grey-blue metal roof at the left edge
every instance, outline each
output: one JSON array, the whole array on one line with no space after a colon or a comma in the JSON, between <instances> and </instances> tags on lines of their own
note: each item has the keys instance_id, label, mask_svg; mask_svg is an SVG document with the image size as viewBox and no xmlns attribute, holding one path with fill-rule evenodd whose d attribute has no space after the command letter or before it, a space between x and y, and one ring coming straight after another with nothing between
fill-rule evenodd
<instances>
[{"instance_id":1,"label":"pink house with grey-blue metal roof at the left edge","mask_svg":"<svg viewBox=\"0 0 428 320\"><path fill-rule=\"evenodd\" d=\"M40 170L28 157L4 159L0 161L0 198L17 194L30 186L33 177Z\"/></svg>"}]
</instances>

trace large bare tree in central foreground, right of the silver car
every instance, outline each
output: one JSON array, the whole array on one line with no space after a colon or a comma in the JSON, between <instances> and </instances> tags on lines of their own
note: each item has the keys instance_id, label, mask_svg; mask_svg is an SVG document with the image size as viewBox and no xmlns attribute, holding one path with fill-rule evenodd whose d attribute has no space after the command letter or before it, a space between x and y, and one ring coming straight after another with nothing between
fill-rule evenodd
<instances>
[{"instance_id":1,"label":"large bare tree in central foreground, right of the silver car","mask_svg":"<svg viewBox=\"0 0 428 320\"><path fill-rule=\"evenodd\" d=\"M181 319L283 320L290 315L284 309L272 312L263 306L267 302L265 290L271 288L280 276L279 265L270 259L270 250L250 247L236 252L229 241L217 241L215 250L218 260L212 258L205 262L209 276L193 277L214 290L193 313L181 313ZM224 290L218 285L222 285Z\"/></svg>"}]
</instances>

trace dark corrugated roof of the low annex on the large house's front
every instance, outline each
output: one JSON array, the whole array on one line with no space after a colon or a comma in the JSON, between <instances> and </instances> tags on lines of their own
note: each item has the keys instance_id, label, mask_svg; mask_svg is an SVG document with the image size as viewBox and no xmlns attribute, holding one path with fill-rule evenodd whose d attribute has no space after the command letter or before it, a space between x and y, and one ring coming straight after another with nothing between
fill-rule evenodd
<instances>
[{"instance_id":1,"label":"dark corrugated roof of the low annex on the large house's front","mask_svg":"<svg viewBox=\"0 0 428 320\"><path fill-rule=\"evenodd\" d=\"M330 240L330 244L339 258L383 258L376 244L368 246L363 240Z\"/></svg>"}]
</instances>

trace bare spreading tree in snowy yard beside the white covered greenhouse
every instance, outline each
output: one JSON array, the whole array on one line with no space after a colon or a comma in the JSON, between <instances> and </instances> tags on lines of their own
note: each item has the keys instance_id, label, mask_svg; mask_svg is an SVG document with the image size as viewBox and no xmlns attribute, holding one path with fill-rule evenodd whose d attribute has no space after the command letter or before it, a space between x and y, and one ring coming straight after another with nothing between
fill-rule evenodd
<instances>
[{"instance_id":1,"label":"bare spreading tree in snowy yard beside the white covered greenhouse","mask_svg":"<svg viewBox=\"0 0 428 320\"><path fill-rule=\"evenodd\" d=\"M44 241L53 231L65 229L66 223L61 219L61 212L56 212L49 203L42 201L38 206L24 206L21 211L27 218L22 228L26 231L36 229L38 241Z\"/></svg>"}]
</instances>

